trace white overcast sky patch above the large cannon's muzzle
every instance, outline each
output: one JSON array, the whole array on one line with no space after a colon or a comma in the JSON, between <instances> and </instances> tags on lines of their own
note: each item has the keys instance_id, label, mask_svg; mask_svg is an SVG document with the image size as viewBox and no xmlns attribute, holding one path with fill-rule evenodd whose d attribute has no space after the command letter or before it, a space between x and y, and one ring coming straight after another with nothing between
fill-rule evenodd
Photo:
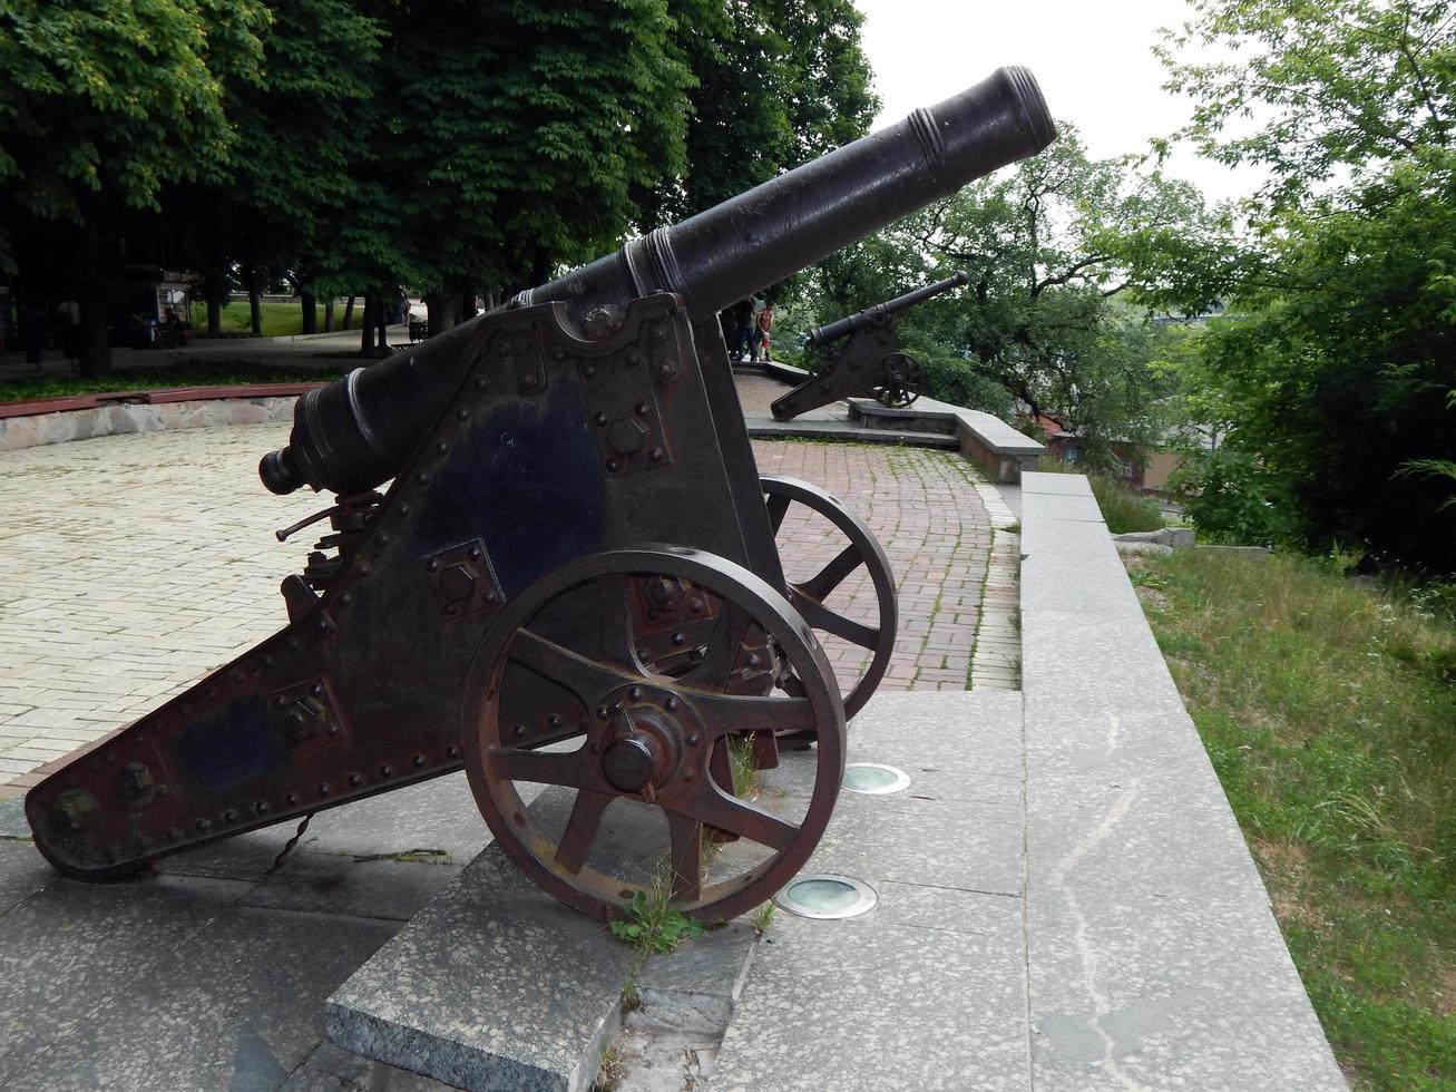
<instances>
[{"instance_id":1,"label":"white overcast sky patch above the large cannon's muzzle","mask_svg":"<svg viewBox=\"0 0 1456 1092\"><path fill-rule=\"evenodd\" d=\"M1037 76L1054 118L1073 122L1088 154L1143 153L1190 116L1188 102L1162 90L1153 57L1159 26L1188 17L1182 0L855 0L865 13L863 47L884 106L875 127L932 106L1003 64ZM1179 151L1168 175L1210 199L1243 197L1259 175Z\"/></svg>"}]
</instances>

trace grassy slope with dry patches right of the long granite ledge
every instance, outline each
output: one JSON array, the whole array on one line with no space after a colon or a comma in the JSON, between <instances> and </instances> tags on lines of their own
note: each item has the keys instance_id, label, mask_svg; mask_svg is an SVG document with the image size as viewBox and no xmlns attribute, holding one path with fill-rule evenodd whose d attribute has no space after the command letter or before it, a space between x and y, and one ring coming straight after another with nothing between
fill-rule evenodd
<instances>
[{"instance_id":1,"label":"grassy slope with dry patches right of the long granite ledge","mask_svg":"<svg viewBox=\"0 0 1456 1092\"><path fill-rule=\"evenodd\" d=\"M1456 622L1328 563L1134 584L1357 1089L1456 1089Z\"/></svg>"}]
</instances>

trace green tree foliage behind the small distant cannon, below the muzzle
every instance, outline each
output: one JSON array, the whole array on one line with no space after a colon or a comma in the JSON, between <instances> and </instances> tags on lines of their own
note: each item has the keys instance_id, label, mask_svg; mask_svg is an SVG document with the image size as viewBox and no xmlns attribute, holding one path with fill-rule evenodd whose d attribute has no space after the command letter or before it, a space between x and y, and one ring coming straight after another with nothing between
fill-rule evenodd
<instances>
[{"instance_id":1,"label":"green tree foliage behind the small distant cannon, below the muzzle","mask_svg":"<svg viewBox=\"0 0 1456 1092\"><path fill-rule=\"evenodd\" d=\"M1059 134L1040 156L823 262L802 306L824 322L967 272L964 291L895 319L930 393L1002 415L1012 399L1034 416L1054 412L1086 460L1111 469L1114 444L1149 446L1166 428L1159 399L1171 384L1153 363L1176 336L1112 297L1166 269L1153 256L1207 214L1184 183L1088 159L1064 122Z\"/></svg>"}]
</instances>

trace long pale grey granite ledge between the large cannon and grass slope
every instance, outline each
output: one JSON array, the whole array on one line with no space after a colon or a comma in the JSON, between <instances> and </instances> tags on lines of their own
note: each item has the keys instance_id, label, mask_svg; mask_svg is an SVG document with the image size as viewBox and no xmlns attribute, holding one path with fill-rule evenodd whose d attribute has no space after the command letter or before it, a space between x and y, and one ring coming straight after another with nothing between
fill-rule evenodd
<instances>
[{"instance_id":1,"label":"long pale grey granite ledge between the large cannon and grass slope","mask_svg":"<svg viewBox=\"0 0 1456 1092\"><path fill-rule=\"evenodd\" d=\"M1031 1083L1342 1089L1091 501L1022 479Z\"/></svg>"}]
</instances>

